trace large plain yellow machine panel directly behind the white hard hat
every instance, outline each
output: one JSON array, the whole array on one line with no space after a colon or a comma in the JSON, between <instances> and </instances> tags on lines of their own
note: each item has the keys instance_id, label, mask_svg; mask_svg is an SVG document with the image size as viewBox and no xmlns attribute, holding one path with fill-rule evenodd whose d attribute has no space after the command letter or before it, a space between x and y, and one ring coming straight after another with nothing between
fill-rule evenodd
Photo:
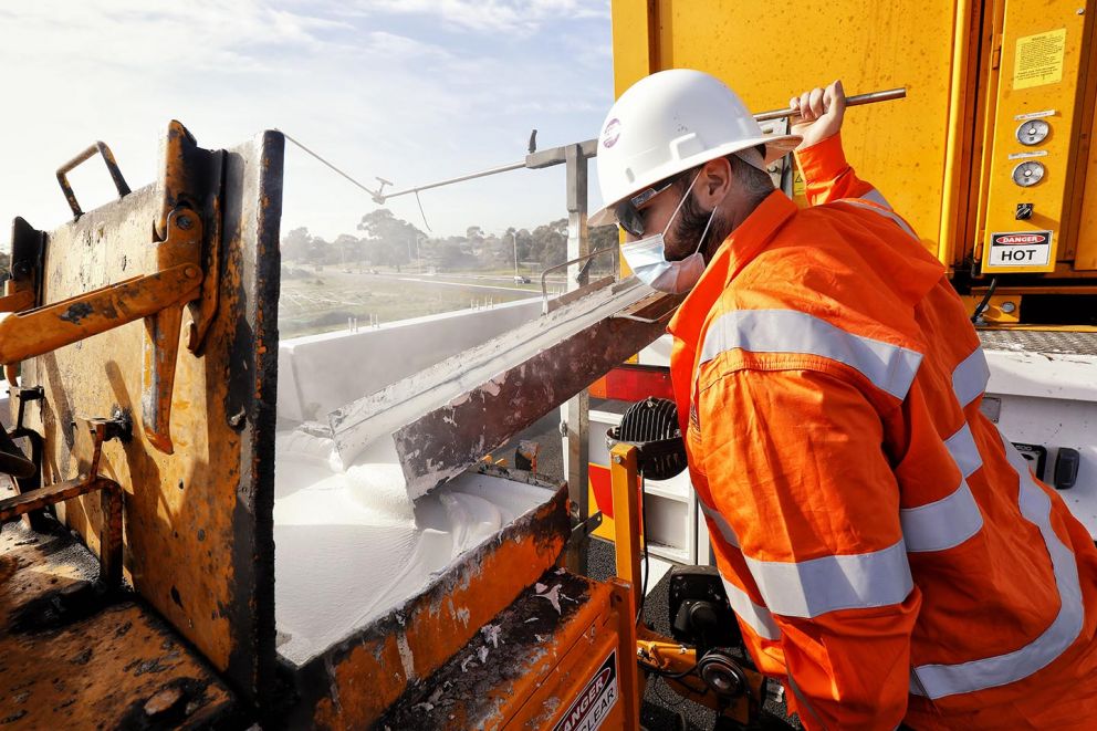
<instances>
[{"instance_id":1,"label":"large plain yellow machine panel directly behind the white hard hat","mask_svg":"<svg viewBox=\"0 0 1097 731\"><path fill-rule=\"evenodd\" d=\"M953 36L958 22L968 32L965 11L943 0L846 4L615 0L616 93L680 67L715 74L755 112L835 79L852 94L906 86L905 101L858 109L843 135L858 174L936 250L948 215Z\"/></svg>"}]
</instances>

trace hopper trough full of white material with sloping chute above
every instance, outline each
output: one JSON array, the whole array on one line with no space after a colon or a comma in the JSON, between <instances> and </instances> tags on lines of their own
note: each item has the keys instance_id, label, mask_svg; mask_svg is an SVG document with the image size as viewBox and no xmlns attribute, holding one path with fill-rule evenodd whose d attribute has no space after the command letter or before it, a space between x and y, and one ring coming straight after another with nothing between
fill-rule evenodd
<instances>
[{"instance_id":1,"label":"hopper trough full of white material with sloping chute above","mask_svg":"<svg viewBox=\"0 0 1097 731\"><path fill-rule=\"evenodd\" d=\"M327 702L333 668L353 666L356 678L396 669L368 700L386 708L544 581L570 533L566 488L480 458L658 337L676 304L631 280L605 284L334 409L326 425L283 420L278 652L304 707Z\"/></svg>"}]
</instances>

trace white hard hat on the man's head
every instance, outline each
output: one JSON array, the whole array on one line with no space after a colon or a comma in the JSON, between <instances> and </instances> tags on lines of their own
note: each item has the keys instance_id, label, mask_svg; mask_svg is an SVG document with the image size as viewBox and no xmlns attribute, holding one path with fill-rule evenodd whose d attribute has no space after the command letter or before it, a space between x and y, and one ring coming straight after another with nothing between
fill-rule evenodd
<instances>
[{"instance_id":1,"label":"white hard hat on the man's head","mask_svg":"<svg viewBox=\"0 0 1097 731\"><path fill-rule=\"evenodd\" d=\"M591 226L614 222L614 207L672 175L765 145L766 164L801 142L764 135L735 92L702 71L671 69L633 84L610 107L598 137L598 187L605 207Z\"/></svg>"}]
</instances>

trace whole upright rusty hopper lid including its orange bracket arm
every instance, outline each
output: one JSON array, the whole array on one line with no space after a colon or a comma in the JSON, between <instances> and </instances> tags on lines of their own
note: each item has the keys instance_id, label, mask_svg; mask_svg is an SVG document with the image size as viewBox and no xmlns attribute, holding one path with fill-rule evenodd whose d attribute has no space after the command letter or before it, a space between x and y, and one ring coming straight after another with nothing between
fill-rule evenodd
<instances>
[{"instance_id":1,"label":"whole upright rusty hopper lid including its orange bracket arm","mask_svg":"<svg viewBox=\"0 0 1097 731\"><path fill-rule=\"evenodd\" d=\"M87 473L91 451L70 427L80 416L143 422L101 456L124 493L124 573L244 702L274 713L283 138L203 149L178 123L168 137L165 167L176 168L158 184L52 231L19 227L17 289L46 306L0 320L0 352L25 357L22 383L43 394L23 420L41 437L43 484ZM55 510L103 555L113 508L96 498Z\"/></svg>"}]
</instances>

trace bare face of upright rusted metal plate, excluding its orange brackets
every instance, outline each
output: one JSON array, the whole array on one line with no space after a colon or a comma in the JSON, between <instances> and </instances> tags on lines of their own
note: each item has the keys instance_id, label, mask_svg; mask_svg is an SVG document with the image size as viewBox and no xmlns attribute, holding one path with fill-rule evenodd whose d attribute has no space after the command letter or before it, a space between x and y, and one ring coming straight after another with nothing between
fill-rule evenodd
<instances>
[{"instance_id":1,"label":"bare face of upright rusted metal plate, excluding its orange brackets","mask_svg":"<svg viewBox=\"0 0 1097 731\"><path fill-rule=\"evenodd\" d=\"M223 231L217 310L199 355L180 347L171 403L175 453L142 430L103 449L102 472L125 493L125 566L138 594L224 673L263 704L274 671L274 388L283 138L263 133L198 166L196 201L207 236ZM215 155L199 149L198 154ZM219 194L219 195L218 195ZM161 213L156 186L84 213L46 234L45 303L156 269ZM220 219L218 220L218 217ZM76 477L77 418L142 410L145 325L134 322L23 364L41 385L25 422L45 438L46 483ZM98 500L59 513L100 551Z\"/></svg>"}]
</instances>

